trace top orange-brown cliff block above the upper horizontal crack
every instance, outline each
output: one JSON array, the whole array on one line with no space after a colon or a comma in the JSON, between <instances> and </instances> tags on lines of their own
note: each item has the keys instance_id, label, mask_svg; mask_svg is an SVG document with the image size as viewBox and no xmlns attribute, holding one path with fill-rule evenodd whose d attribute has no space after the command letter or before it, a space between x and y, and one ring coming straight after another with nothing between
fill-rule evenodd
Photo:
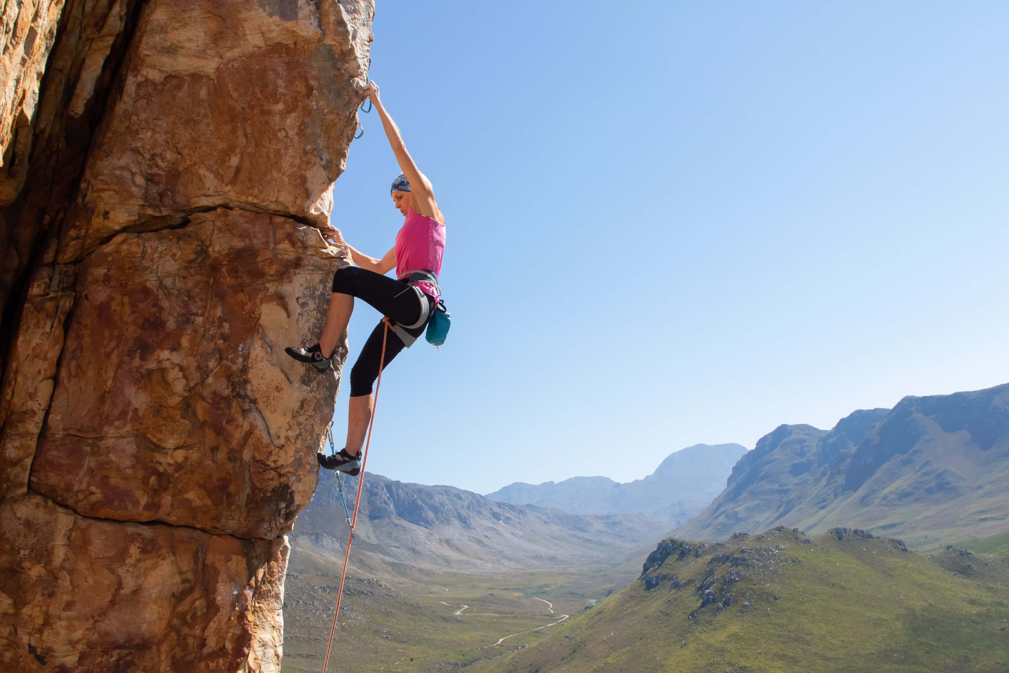
<instances>
[{"instance_id":1,"label":"top orange-brown cliff block above the upper horizontal crack","mask_svg":"<svg viewBox=\"0 0 1009 673\"><path fill-rule=\"evenodd\" d=\"M357 126L361 29L331 0L149 2L63 254L218 206L325 224Z\"/></svg>"}]
</instances>

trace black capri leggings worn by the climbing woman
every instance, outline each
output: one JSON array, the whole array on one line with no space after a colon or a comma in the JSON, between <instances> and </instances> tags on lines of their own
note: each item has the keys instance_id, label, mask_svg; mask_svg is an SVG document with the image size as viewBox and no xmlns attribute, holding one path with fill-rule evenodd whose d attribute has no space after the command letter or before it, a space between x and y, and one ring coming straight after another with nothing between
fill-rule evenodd
<instances>
[{"instance_id":1,"label":"black capri leggings worn by the climbing woman","mask_svg":"<svg viewBox=\"0 0 1009 673\"><path fill-rule=\"evenodd\" d=\"M411 287L382 275L369 271L366 268L357 266L344 266L337 269L333 274L333 292L341 295L350 295L357 299L362 299L378 310L383 316L391 318L399 325L413 325L421 318L421 303L418 300L417 292ZM428 301L428 320L434 313L434 298L424 295ZM407 334L419 337L424 333L427 323L414 329L401 328ZM373 330L368 340L361 348L361 354L357 356L357 361L350 369L350 397L360 398L371 395L371 386L378 377L378 358L381 357L381 340L384 325L381 321ZM389 330L385 340L385 359L381 363L384 369L393 361L400 351L406 348L396 332Z\"/></svg>"}]
</instances>

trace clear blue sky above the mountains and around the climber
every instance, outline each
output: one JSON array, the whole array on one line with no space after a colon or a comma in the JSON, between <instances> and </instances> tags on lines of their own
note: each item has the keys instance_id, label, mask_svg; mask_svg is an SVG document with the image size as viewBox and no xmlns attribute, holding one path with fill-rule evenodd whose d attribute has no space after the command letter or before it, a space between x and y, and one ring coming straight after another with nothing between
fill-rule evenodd
<instances>
[{"instance_id":1,"label":"clear blue sky above the mountains and around the climber","mask_svg":"<svg viewBox=\"0 0 1009 673\"><path fill-rule=\"evenodd\" d=\"M386 369L369 470L627 481L1009 381L1007 34L1004 2L378 0L453 323ZM333 223L380 256L399 169L360 116Z\"/></svg>"}]
</instances>

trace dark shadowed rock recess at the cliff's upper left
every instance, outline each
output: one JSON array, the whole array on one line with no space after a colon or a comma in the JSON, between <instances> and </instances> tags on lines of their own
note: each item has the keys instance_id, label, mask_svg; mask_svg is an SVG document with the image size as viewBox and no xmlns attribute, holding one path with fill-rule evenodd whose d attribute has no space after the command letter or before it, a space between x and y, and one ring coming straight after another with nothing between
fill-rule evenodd
<instances>
[{"instance_id":1,"label":"dark shadowed rock recess at the cliff's upper left","mask_svg":"<svg viewBox=\"0 0 1009 673\"><path fill-rule=\"evenodd\" d=\"M38 74L34 116L18 114L16 134L3 147L0 358L4 359L0 364L16 338L32 268L45 244L53 242L54 231L75 197L92 136L109 104L141 7L138 0L68 0L61 5L62 14L55 5L50 8L55 14L45 12L50 19L48 30L59 24L59 39L51 45L44 78ZM29 3L8 1L5 7L16 10L19 21L29 16ZM15 72L9 77L23 81ZM71 101L75 101L73 111ZM32 189L24 189L25 185Z\"/></svg>"}]
</instances>

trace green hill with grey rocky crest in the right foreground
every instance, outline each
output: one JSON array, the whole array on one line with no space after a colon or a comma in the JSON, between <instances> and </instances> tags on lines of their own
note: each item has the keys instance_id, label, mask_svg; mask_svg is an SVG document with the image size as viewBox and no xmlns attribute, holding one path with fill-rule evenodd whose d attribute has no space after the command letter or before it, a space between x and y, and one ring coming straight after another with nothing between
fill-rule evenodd
<instances>
[{"instance_id":1,"label":"green hill with grey rocky crest in the right foreground","mask_svg":"<svg viewBox=\"0 0 1009 673\"><path fill-rule=\"evenodd\" d=\"M1009 671L1006 557L779 528L720 544L670 538L646 567L480 670Z\"/></svg>"}]
</instances>

